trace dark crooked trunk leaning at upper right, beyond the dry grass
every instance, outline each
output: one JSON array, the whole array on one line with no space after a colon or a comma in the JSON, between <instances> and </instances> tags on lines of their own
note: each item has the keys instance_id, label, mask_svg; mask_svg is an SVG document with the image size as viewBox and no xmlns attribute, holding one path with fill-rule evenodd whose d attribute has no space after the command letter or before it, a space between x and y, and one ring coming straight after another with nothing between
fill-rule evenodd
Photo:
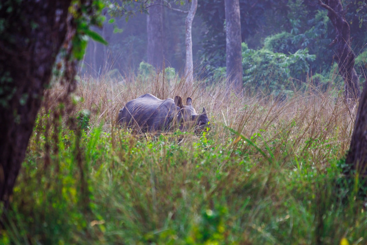
<instances>
[{"instance_id":1,"label":"dark crooked trunk leaning at upper right, beyond the dry grass","mask_svg":"<svg viewBox=\"0 0 367 245\"><path fill-rule=\"evenodd\" d=\"M353 105L361 96L359 88L359 78L354 69L355 54L350 48L350 27L345 19L345 11L340 0L319 0L321 7L327 9L327 16L333 23L337 36L330 44L336 44L337 50L335 58L337 59L339 74L344 78L344 92L348 104Z\"/></svg>"}]
</instances>

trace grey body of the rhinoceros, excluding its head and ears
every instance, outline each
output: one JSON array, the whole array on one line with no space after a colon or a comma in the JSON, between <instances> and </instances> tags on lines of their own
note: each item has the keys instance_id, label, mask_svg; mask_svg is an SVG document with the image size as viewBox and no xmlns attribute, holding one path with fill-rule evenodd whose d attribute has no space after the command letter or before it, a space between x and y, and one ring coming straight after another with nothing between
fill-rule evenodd
<instances>
[{"instance_id":1,"label":"grey body of the rhinoceros, excluding its head and ears","mask_svg":"<svg viewBox=\"0 0 367 245\"><path fill-rule=\"evenodd\" d=\"M178 109L171 98L160 100L144 94L126 103L119 112L118 123L142 132L170 130Z\"/></svg>"}]
</instances>

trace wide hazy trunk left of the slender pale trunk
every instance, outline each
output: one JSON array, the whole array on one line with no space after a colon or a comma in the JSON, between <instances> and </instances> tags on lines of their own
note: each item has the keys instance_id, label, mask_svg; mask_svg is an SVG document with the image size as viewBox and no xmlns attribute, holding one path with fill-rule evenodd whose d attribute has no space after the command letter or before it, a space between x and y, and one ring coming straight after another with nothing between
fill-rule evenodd
<instances>
[{"instance_id":1,"label":"wide hazy trunk left of the slender pale trunk","mask_svg":"<svg viewBox=\"0 0 367 245\"><path fill-rule=\"evenodd\" d=\"M148 32L147 59L150 65L162 69L164 56L163 5L162 0L155 0L148 7L146 17Z\"/></svg>"}]
</instances>

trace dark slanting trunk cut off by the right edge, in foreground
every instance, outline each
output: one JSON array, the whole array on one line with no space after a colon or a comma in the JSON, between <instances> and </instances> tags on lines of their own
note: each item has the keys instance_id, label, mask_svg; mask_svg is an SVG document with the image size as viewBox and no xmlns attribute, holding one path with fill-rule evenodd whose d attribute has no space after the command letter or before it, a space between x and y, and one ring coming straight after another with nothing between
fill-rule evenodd
<instances>
[{"instance_id":1,"label":"dark slanting trunk cut off by the right edge, in foreground","mask_svg":"<svg viewBox=\"0 0 367 245\"><path fill-rule=\"evenodd\" d=\"M345 163L367 177L367 86L359 100L356 122Z\"/></svg>"}]
</instances>

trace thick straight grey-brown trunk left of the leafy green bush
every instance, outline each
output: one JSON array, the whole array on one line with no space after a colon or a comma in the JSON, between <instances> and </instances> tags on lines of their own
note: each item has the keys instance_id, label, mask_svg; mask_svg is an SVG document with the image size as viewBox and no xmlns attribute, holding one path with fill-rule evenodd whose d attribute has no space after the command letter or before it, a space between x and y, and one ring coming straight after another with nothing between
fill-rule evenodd
<instances>
[{"instance_id":1,"label":"thick straight grey-brown trunk left of the leafy green bush","mask_svg":"<svg viewBox=\"0 0 367 245\"><path fill-rule=\"evenodd\" d=\"M225 0L227 87L240 93L242 82L241 20L239 0Z\"/></svg>"}]
</instances>

